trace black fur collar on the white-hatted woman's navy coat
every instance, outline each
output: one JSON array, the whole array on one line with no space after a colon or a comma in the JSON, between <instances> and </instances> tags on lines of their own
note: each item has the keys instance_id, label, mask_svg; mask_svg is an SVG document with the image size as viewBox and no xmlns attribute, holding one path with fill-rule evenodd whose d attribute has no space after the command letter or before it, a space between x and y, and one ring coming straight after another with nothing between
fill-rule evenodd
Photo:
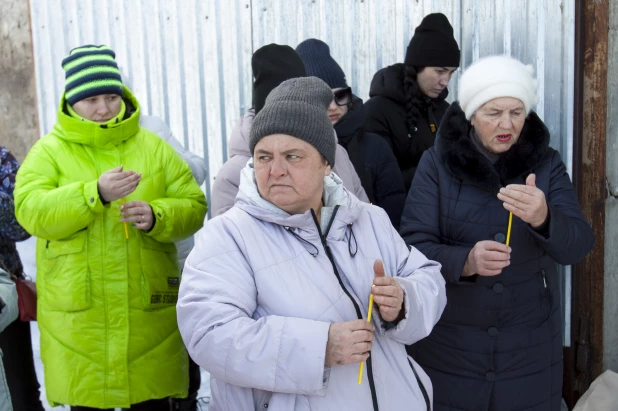
<instances>
[{"instance_id":1,"label":"black fur collar on the white-hatted woman's navy coat","mask_svg":"<svg viewBox=\"0 0 618 411\"><path fill-rule=\"evenodd\" d=\"M526 118L517 143L496 164L491 164L474 147L469 137L470 127L459 103L451 104L436 137L438 158L455 177L493 193L529 174L548 151L549 131L534 111Z\"/></svg>"}]
</instances>

